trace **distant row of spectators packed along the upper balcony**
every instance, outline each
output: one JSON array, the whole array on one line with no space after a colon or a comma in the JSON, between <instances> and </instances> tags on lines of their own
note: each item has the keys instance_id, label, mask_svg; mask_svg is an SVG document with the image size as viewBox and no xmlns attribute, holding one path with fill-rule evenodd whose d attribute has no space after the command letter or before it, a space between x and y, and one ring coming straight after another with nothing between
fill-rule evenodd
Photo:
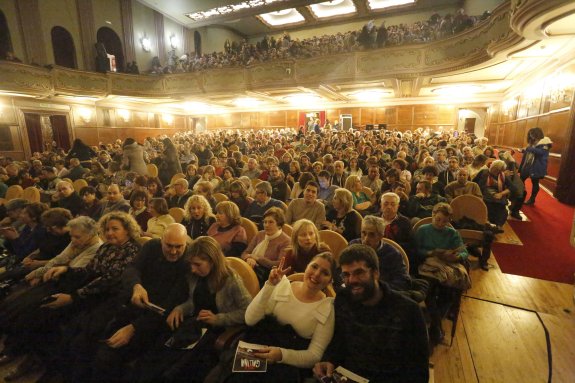
<instances>
[{"instance_id":1,"label":"distant row of spectators packed along the upper balcony","mask_svg":"<svg viewBox=\"0 0 575 383\"><path fill-rule=\"evenodd\" d=\"M244 40L241 43L226 41L222 52L202 55L187 54L176 57L169 52L165 66L159 60L152 65L152 73L195 72L212 68L249 66L252 64L297 60L339 53L364 51L388 46L427 43L440 40L473 27L489 17L469 16L460 9L455 15L433 14L428 20L413 24L375 25L368 22L361 30L339 32L333 35L313 36L305 39L292 38L287 32L279 38L265 36L257 43Z\"/></svg>"}]
</instances>

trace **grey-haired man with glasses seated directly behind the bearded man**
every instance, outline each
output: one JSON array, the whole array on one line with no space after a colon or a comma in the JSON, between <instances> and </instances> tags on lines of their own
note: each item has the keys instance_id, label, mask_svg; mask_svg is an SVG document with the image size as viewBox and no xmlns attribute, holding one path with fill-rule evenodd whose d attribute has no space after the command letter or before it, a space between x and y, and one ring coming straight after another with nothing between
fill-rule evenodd
<instances>
[{"instance_id":1,"label":"grey-haired man with glasses seated directly behind the bearded man","mask_svg":"<svg viewBox=\"0 0 575 383\"><path fill-rule=\"evenodd\" d=\"M361 224L361 238L351 241L350 245L362 243L375 250L381 278L394 290L409 290L411 278L403 263L403 257L393 246L382 241L384 237L383 219L368 215Z\"/></svg>"}]
</instances>

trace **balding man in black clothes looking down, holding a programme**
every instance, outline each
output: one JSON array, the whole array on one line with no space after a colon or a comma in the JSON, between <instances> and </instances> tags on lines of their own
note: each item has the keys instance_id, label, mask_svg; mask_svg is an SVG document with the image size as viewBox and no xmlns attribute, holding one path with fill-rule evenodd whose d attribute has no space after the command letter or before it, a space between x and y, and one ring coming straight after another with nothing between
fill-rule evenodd
<instances>
[{"instance_id":1,"label":"balding man in black clothes looking down, holding a programme","mask_svg":"<svg viewBox=\"0 0 575 383\"><path fill-rule=\"evenodd\" d=\"M173 223L161 239L144 244L122 275L121 299L94 310L98 319L68 335L54 363L66 380L124 380L126 362L170 337L166 314L153 312L150 304L171 311L186 301L186 242L186 229Z\"/></svg>"}]
</instances>

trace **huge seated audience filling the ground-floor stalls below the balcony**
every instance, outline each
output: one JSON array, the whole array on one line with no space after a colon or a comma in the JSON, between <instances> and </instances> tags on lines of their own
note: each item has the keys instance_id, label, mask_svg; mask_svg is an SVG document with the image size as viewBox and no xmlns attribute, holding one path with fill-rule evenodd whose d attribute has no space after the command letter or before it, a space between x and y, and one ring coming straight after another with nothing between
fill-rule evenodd
<instances>
[{"instance_id":1,"label":"huge seated audience filling the ground-floor stalls below the balcony","mask_svg":"<svg viewBox=\"0 0 575 383\"><path fill-rule=\"evenodd\" d=\"M252 381L215 348L226 327L247 324L244 340L269 345L258 353L270 363L261 381L298 381L312 367L321 378L342 365L373 381L427 382L428 336L443 337L441 292L469 287L470 254L488 269L450 226L448 202L482 199L491 224L480 230L499 232L508 205L521 219L522 181L544 176L551 146L532 129L519 168L487 143L463 131L344 131L326 121L307 132L76 140L67 153L1 157L0 197L27 187L41 200L0 205L0 364L27 355L6 380L45 368L72 381ZM250 225L261 231L248 237ZM349 242L337 262L324 231ZM255 271L253 301L226 258ZM290 284L292 273L303 282ZM16 283L24 292L10 294ZM414 302L423 300L427 330Z\"/></svg>"}]
</instances>

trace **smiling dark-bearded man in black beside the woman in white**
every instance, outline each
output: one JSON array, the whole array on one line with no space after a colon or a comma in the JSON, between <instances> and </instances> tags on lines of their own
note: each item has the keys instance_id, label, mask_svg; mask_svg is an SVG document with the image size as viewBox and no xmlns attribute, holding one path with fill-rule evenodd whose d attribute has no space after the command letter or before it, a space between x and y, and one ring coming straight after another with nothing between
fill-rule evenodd
<instances>
[{"instance_id":1,"label":"smiling dark-bearded man in black beside the woman in white","mask_svg":"<svg viewBox=\"0 0 575 383\"><path fill-rule=\"evenodd\" d=\"M427 382L427 329L419 306L380 280L369 246L347 247L339 262L345 287L335 298L335 331L314 375L329 379L342 366L370 382Z\"/></svg>"}]
</instances>

